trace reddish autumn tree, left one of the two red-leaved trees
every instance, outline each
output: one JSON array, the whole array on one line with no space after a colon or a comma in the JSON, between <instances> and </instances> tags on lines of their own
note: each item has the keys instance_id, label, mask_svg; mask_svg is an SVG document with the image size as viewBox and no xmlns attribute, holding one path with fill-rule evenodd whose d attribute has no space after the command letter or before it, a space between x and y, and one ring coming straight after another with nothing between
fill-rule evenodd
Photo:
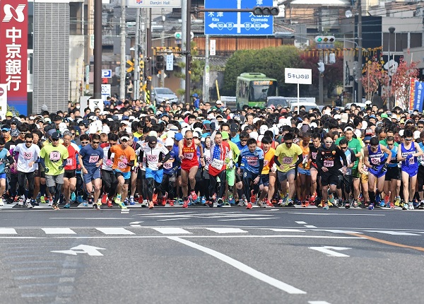
<instances>
[{"instance_id":1,"label":"reddish autumn tree, left one of the two red-leaved trees","mask_svg":"<svg viewBox=\"0 0 424 304\"><path fill-rule=\"evenodd\" d=\"M380 86L389 85L389 75L382 67L382 63L377 60L377 57L372 57L364 68L365 75L363 75L362 83L367 100L372 100L372 96L377 93ZM387 96L382 96L383 100L386 100Z\"/></svg>"}]
</instances>

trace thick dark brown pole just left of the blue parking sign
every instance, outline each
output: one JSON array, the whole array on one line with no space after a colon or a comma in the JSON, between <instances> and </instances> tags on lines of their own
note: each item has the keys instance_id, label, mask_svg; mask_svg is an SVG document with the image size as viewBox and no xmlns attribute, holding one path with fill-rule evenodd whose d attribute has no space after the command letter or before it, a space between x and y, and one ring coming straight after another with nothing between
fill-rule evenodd
<instances>
[{"instance_id":1,"label":"thick dark brown pole just left of the blue parking sign","mask_svg":"<svg viewBox=\"0 0 424 304\"><path fill-rule=\"evenodd\" d=\"M90 59L88 59L90 60ZM102 98L102 0L94 2L94 94Z\"/></svg>"}]
</instances>

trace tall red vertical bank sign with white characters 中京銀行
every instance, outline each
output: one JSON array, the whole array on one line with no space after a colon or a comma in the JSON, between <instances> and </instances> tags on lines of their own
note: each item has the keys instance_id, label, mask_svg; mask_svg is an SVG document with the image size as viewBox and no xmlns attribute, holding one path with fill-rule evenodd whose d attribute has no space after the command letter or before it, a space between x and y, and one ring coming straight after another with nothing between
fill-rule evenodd
<instances>
[{"instance_id":1,"label":"tall red vertical bank sign with white characters \u4e2d\u4eac\u9280\u884c","mask_svg":"<svg viewBox=\"0 0 424 304\"><path fill-rule=\"evenodd\" d=\"M28 0L0 0L0 41L0 83L7 85L8 105L26 115Z\"/></svg>"}]
</instances>

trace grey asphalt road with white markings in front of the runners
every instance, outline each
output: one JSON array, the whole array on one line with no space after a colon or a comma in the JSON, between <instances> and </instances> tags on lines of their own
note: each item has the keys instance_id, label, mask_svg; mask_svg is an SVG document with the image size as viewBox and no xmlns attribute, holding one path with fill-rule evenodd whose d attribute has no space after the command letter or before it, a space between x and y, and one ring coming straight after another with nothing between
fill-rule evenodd
<instances>
[{"instance_id":1,"label":"grey asphalt road with white markings in front of the runners","mask_svg":"<svg viewBox=\"0 0 424 304\"><path fill-rule=\"evenodd\" d=\"M423 303L424 211L0 209L0 303Z\"/></svg>"}]
</instances>

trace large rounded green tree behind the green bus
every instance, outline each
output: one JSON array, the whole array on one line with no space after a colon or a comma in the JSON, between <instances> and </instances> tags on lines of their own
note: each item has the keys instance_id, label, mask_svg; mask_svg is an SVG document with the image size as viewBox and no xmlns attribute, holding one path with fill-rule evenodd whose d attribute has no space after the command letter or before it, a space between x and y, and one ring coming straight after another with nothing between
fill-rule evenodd
<instances>
[{"instance_id":1,"label":"large rounded green tree behind the green bus","mask_svg":"<svg viewBox=\"0 0 424 304\"><path fill-rule=\"evenodd\" d=\"M275 78L278 81L279 95L283 95L295 87L284 83L284 68L300 65L298 49L290 45L237 51L225 65L223 95L235 95L237 76L242 73L263 73Z\"/></svg>"}]
</instances>

